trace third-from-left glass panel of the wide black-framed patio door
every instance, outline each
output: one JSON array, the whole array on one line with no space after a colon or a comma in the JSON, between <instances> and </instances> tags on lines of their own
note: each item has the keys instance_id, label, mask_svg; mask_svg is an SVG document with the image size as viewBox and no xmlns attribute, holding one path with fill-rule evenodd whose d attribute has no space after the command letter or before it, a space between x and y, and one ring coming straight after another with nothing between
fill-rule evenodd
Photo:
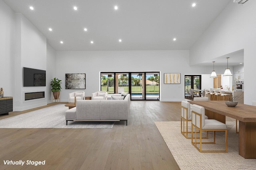
<instances>
[{"instance_id":1,"label":"third-from-left glass panel of the wide black-framed patio door","mask_svg":"<svg viewBox=\"0 0 256 170\"><path fill-rule=\"evenodd\" d=\"M131 74L131 99L132 100L144 100L144 73L132 73Z\"/></svg>"}]
</instances>

